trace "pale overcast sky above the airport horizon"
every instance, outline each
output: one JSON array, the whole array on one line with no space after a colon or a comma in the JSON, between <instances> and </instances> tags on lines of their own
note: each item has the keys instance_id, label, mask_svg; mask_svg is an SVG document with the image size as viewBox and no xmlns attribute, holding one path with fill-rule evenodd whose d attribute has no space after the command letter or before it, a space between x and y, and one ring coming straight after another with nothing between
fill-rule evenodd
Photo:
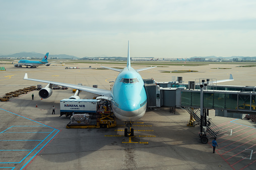
<instances>
[{"instance_id":1,"label":"pale overcast sky above the airport horizon","mask_svg":"<svg viewBox=\"0 0 256 170\"><path fill-rule=\"evenodd\" d=\"M256 56L255 0L0 0L0 54Z\"/></svg>"}]
</instances>

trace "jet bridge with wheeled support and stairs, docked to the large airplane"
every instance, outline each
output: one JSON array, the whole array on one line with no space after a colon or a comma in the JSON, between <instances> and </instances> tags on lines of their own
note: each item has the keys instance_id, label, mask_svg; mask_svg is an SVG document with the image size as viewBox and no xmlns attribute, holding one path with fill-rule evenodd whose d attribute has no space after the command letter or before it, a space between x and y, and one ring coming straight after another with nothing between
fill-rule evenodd
<instances>
[{"instance_id":1,"label":"jet bridge with wheeled support and stairs, docked to the large airplane","mask_svg":"<svg viewBox=\"0 0 256 170\"><path fill-rule=\"evenodd\" d=\"M217 137L219 131L208 116L209 109L215 109L218 116L234 118L256 114L256 87L218 86L216 82L216 79L196 79L184 84L182 79L175 78L171 82L156 82L160 106L184 107L191 118L188 124L200 124L202 143L208 142L207 132Z\"/></svg>"}]
</instances>

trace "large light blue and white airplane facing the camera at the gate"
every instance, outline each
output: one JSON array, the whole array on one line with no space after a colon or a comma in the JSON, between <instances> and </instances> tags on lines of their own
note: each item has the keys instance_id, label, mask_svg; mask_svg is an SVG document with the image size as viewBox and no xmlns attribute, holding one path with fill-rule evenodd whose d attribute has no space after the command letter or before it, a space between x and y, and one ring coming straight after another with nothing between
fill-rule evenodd
<instances>
[{"instance_id":1,"label":"large light blue and white airplane facing the camera at the gate","mask_svg":"<svg viewBox=\"0 0 256 170\"><path fill-rule=\"evenodd\" d=\"M147 108L147 95L144 87L144 81L138 72L152 69L155 67L148 67L137 70L133 69L131 67L130 47L128 42L128 56L126 67L124 69L109 67L103 68L120 72L114 82L111 91L67 83L30 79L28 78L27 73L25 74L24 79L48 83L45 88L42 88L39 91L39 96L43 99L51 96L51 89L53 84L77 89L75 95L70 97L73 99L80 99L80 97L78 96L79 90L100 95L99 97L97 97L97 99L109 100L111 102L114 115L118 119L125 121L127 128L124 129L124 136L128 136L128 134L130 134L130 136L134 136L134 129L131 128L133 125L133 121L142 118Z\"/></svg>"}]
</instances>

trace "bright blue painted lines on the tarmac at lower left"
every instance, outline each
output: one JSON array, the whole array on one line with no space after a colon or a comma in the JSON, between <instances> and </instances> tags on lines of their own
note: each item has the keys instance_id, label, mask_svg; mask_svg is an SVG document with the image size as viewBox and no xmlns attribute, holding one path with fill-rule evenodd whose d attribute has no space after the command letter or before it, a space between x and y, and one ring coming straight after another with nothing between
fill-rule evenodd
<instances>
[{"instance_id":1,"label":"bright blue painted lines on the tarmac at lower left","mask_svg":"<svg viewBox=\"0 0 256 170\"><path fill-rule=\"evenodd\" d=\"M5 109L2 109L2 108L0 108L1 110L4 110L4 111L7 111L7 112L9 112L9 113L12 113L12 114L15 114L15 113L13 113L13 112L10 112L10 111L8 111L8 110L5 110ZM15 114L15 115L17 115L17 116L20 116L20 117L23 117L23 118L26 118L26 119L28 119L28 120L31 120L31 121L33 121L33 122L35 122L35 123L39 123L39 124L41 124L40 126L11 126L11 127L9 127L9 128L7 128L6 130L4 130L4 131L2 131L2 132L0 132L0 134L1 133L49 133L44 139L42 139L42 140L0 140L0 141L41 141L39 144L37 144L35 147L34 147L34 149L32 149L32 150L15 150L15 149L13 149L13 150L11 150L11 149L9 149L9 150L0 150L0 151L30 151L21 161L19 161L19 162L0 162L0 163L21 163L26 157L28 157L30 154L32 154L32 152L33 151L35 151L35 149L39 149L27 162L24 162L25 164L21 167L21 169L23 169L24 167L26 167L26 165L51 141L51 139L53 139L56 135L57 135L57 133L60 131L60 130L58 130L58 129L55 129L55 128L53 128L53 127L50 127L50 126L48 126L48 125L45 125L45 124L42 124L42 123L40 123L40 122L37 122L37 121L35 121L35 120L32 120L32 119L29 119L29 118L27 118L27 117L24 117L24 116L21 116L21 115L18 115L18 114ZM52 129L52 131L51 132L6 132L7 130L9 130L10 128L12 128L12 127L49 127L49 128L51 128ZM50 135L52 135L53 134L53 136L51 137L51 138L49 138L49 136ZM49 139L47 139L47 138L49 138ZM46 143L43 145L43 146L41 146L41 148L39 148L39 145L40 144L42 144L42 142L44 142L44 141L46 141ZM0 167L0 168L12 168L12 169L14 169L15 167Z\"/></svg>"}]
</instances>

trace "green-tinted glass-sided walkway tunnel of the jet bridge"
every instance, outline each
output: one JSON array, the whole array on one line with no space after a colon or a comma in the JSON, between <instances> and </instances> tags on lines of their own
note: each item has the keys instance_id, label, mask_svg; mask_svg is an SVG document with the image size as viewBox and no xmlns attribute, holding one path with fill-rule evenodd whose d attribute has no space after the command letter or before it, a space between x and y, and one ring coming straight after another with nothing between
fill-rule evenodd
<instances>
[{"instance_id":1,"label":"green-tinted glass-sided walkway tunnel of the jet bridge","mask_svg":"<svg viewBox=\"0 0 256 170\"><path fill-rule=\"evenodd\" d=\"M177 107L200 108L200 90L179 91L180 100L176 97ZM228 110L240 114L256 113L256 92L204 90L203 93L205 109Z\"/></svg>"}]
</instances>

